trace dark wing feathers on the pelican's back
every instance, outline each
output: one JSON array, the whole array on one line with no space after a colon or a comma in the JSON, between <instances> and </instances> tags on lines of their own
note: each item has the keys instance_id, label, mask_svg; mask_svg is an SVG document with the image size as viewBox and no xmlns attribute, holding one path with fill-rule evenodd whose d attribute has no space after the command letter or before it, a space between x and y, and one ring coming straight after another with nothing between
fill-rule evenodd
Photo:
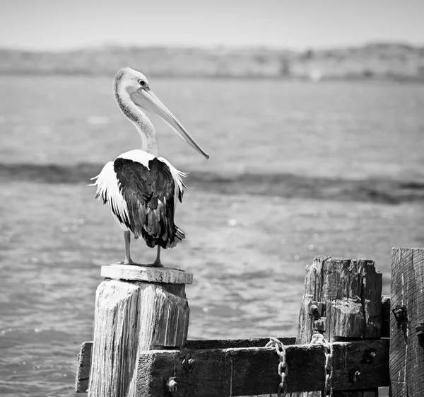
<instances>
[{"instance_id":1,"label":"dark wing feathers on the pelican's back","mask_svg":"<svg viewBox=\"0 0 424 397\"><path fill-rule=\"evenodd\" d=\"M155 158L146 167L119 157L114 171L129 212L124 224L134 236L142 236L152 248L175 246L185 237L174 224L175 181L166 163Z\"/></svg>"}]
</instances>

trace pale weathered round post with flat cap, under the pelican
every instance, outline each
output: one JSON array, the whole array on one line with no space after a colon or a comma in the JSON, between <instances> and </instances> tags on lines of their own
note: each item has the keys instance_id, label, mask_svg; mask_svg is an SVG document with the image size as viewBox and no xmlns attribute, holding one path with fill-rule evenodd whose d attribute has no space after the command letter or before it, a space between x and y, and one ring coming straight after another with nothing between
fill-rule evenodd
<instances>
[{"instance_id":1,"label":"pale weathered round post with flat cap, under the pelican","mask_svg":"<svg viewBox=\"0 0 424 397\"><path fill-rule=\"evenodd\" d=\"M167 267L102 266L96 292L90 397L136 397L145 350L183 347L192 275Z\"/></svg>"}]
</instances>

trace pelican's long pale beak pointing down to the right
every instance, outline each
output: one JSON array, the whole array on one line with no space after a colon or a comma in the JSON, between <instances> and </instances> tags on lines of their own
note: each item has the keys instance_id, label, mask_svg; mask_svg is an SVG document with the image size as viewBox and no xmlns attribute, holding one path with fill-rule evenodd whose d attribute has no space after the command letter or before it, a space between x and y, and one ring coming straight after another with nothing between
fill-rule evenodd
<instances>
[{"instance_id":1,"label":"pelican's long pale beak pointing down to the right","mask_svg":"<svg viewBox=\"0 0 424 397\"><path fill-rule=\"evenodd\" d=\"M177 120L177 117L167 110L166 106L160 102L159 98L155 96L150 88L139 88L134 93L131 93L131 99L134 100L134 103L141 108L158 115L179 135L181 139L193 146L193 148L196 149L196 151L199 151L200 154L203 154L206 159L209 159L209 155L201 149L183 125Z\"/></svg>"}]
</instances>

